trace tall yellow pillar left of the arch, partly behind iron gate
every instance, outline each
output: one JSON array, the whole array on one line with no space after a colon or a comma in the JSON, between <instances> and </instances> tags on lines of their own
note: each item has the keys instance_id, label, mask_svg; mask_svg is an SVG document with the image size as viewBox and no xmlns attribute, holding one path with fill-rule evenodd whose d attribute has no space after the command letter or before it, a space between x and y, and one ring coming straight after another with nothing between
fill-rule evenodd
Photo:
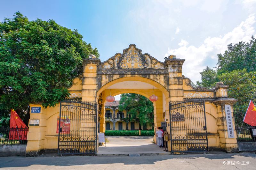
<instances>
[{"instance_id":1,"label":"tall yellow pillar left of the arch, partly behind iron gate","mask_svg":"<svg viewBox=\"0 0 256 170\"><path fill-rule=\"evenodd\" d=\"M95 55L90 55L89 58L83 59L83 89L82 100L85 102L98 102L97 101L97 67L100 64L100 59L97 59ZM98 122L98 116L92 113L91 109L85 109L81 112L81 117L84 121L80 123L80 138L92 139L97 135L94 133L97 127L95 119ZM83 143L83 142L82 142ZM90 152L94 150L94 142L85 142L84 146L81 146L80 152ZM96 141L96 144L98 142Z\"/></svg>"}]
</instances>

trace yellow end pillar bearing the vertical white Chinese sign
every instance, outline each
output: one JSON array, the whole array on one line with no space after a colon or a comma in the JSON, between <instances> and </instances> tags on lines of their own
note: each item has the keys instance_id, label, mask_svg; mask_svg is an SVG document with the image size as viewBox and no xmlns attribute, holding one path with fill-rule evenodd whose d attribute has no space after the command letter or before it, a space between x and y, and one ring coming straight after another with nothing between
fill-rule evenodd
<instances>
[{"instance_id":1,"label":"yellow end pillar bearing the vertical white Chinese sign","mask_svg":"<svg viewBox=\"0 0 256 170\"><path fill-rule=\"evenodd\" d=\"M216 121L220 137L220 147L228 153L237 153L239 152L239 150L236 141L237 135L235 130L235 118L233 115L233 105L234 103L236 103L237 100L234 98L228 98L228 85L223 85L222 82L218 82L214 89L217 99L214 100L213 103L216 105L218 113L218 118L216 119ZM230 105L231 107L230 110L234 129L234 138L229 138L225 105Z\"/></svg>"}]
</instances>

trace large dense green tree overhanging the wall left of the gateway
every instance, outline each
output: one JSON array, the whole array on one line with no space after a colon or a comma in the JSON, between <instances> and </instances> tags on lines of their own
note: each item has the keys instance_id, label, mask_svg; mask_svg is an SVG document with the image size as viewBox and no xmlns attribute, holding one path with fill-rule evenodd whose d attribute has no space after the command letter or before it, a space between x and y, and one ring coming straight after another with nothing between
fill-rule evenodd
<instances>
[{"instance_id":1,"label":"large dense green tree overhanging the wall left of the gateway","mask_svg":"<svg viewBox=\"0 0 256 170\"><path fill-rule=\"evenodd\" d=\"M24 118L29 103L51 107L68 96L72 79L82 74L82 59L99 57L97 48L82 39L54 20L29 21L20 12L5 18L0 23L0 111L14 108Z\"/></svg>"}]
</instances>

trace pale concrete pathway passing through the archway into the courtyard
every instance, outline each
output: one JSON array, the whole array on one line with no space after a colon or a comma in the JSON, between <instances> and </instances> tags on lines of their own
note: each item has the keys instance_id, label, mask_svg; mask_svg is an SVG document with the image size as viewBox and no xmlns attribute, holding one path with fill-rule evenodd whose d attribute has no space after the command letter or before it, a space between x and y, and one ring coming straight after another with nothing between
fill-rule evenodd
<instances>
[{"instance_id":1,"label":"pale concrete pathway passing through the archway into the courtyard","mask_svg":"<svg viewBox=\"0 0 256 170\"><path fill-rule=\"evenodd\" d=\"M152 143L153 137L140 136L106 136L109 143L98 148L97 155L128 155L133 153L140 154L157 154L169 155L170 152L165 152L165 148L159 148L158 145Z\"/></svg>"}]
</instances>

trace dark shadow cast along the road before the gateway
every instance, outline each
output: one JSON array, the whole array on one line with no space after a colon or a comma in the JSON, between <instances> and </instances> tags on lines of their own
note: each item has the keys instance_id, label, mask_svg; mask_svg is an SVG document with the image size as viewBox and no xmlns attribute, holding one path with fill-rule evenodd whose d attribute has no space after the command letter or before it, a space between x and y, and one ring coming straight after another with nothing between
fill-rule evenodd
<instances>
[{"instance_id":1,"label":"dark shadow cast along the road before the gateway","mask_svg":"<svg viewBox=\"0 0 256 170\"><path fill-rule=\"evenodd\" d=\"M175 161L179 159L235 159L234 156L256 158L255 153L234 153L234 154L188 154L188 155L159 155L159 156L63 156L63 157L1 157L0 167L28 167L31 165L47 165L47 166L76 166L76 165L100 165L100 164L116 164L124 165L140 165L155 164L158 161L169 160Z\"/></svg>"}]
</instances>

